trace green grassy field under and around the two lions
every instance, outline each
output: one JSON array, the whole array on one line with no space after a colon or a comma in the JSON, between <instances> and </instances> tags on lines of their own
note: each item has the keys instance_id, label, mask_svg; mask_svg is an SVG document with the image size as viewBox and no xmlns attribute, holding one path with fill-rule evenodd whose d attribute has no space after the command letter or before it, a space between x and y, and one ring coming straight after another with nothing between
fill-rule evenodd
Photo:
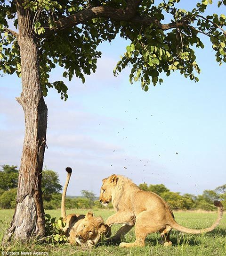
<instances>
[{"instance_id":1,"label":"green grassy field under and around the two lions","mask_svg":"<svg viewBox=\"0 0 226 256\"><path fill-rule=\"evenodd\" d=\"M86 213L88 210L71 210L67 213ZM112 215L113 210L93 210L95 215L101 215L105 220ZM46 213L51 216L60 217L60 210L48 210ZM13 210L0 210L0 239L7 229ZM175 212L177 222L188 228L205 228L217 218L217 213L197 213L197 212ZM113 226L113 233L118 226ZM127 234L125 241L135 240L134 229ZM224 215L218 228L210 233L202 235L182 234L178 231L171 232L173 246L163 247L158 243L159 234L150 234L146 239L145 247L120 248L118 246L98 246L93 249L71 246L69 244L44 245L32 241L28 245L16 244L13 247L2 249L3 255L13 255L12 252L32 252L32 255L48 253L56 256L226 256L226 216ZM10 254L11 253L11 254ZM15 255L15 254L14 254ZM19 253L18 255L23 255Z\"/></svg>"}]
</instances>

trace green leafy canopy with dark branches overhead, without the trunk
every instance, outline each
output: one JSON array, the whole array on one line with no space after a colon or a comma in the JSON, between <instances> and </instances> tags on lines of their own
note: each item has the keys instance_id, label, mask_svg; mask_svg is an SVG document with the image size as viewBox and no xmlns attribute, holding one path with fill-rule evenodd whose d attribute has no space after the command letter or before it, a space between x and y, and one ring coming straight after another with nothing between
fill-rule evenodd
<instances>
[{"instance_id":1,"label":"green leafy canopy with dark branches overhead, without the trunk","mask_svg":"<svg viewBox=\"0 0 226 256\"><path fill-rule=\"evenodd\" d=\"M73 76L85 82L97 68L101 52L97 46L111 42L117 34L131 43L114 69L114 75L129 66L129 81L138 80L147 91L150 84L162 83L162 74L169 76L178 70L197 82L200 68L195 47L204 48L200 35L210 38L216 60L226 62L226 16L205 16L208 5L218 4L219 11L226 0L202 0L194 9L179 9L180 0L24 0L24 9L31 13L32 35L39 50L40 85L44 96L54 87L62 99L67 99L63 81L49 82L49 73L57 65L63 67L63 77ZM20 52L16 6L13 0L0 0L0 70L16 72L20 77ZM194 1L193 1L194 2ZM123 15L124 14L124 15ZM163 24L165 20L171 20Z\"/></svg>"}]
</instances>

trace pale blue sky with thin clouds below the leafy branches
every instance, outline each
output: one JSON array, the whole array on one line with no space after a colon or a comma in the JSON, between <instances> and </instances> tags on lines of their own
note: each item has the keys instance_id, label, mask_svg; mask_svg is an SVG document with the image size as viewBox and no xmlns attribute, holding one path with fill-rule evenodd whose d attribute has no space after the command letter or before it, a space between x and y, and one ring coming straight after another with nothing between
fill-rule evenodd
<instances>
[{"instance_id":1,"label":"pale blue sky with thin clouds below the leafy branches","mask_svg":"<svg viewBox=\"0 0 226 256\"><path fill-rule=\"evenodd\" d=\"M97 72L85 85L65 80L67 102L49 91L44 166L57 171L62 185L65 167L73 168L68 195L81 189L98 195L101 180L112 173L137 184L163 183L182 194L226 183L226 66L218 66L204 41L206 47L196 51L199 83L175 72L144 92L139 82L129 84L128 70L113 77L128 45L117 38L100 46ZM61 71L56 68L50 79L62 79ZM0 77L1 165L20 164L24 115L15 100L20 92L19 78Z\"/></svg>"}]
</instances>

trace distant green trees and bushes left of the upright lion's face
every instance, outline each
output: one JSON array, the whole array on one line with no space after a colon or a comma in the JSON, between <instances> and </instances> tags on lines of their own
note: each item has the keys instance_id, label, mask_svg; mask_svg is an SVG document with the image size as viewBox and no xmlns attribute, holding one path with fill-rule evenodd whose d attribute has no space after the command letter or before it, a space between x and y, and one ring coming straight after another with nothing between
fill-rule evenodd
<instances>
[{"instance_id":1,"label":"distant green trees and bushes left of the upright lion's face","mask_svg":"<svg viewBox=\"0 0 226 256\"><path fill-rule=\"evenodd\" d=\"M0 170L0 208L10 209L16 206L16 192L19 171L17 166L2 165ZM61 207L61 196L59 193L62 186L58 174L52 170L42 173L42 198L45 209L58 209ZM88 190L81 190L80 197L67 196L66 208L101 208L95 194ZM111 206L110 206L111 207Z\"/></svg>"}]
</instances>

